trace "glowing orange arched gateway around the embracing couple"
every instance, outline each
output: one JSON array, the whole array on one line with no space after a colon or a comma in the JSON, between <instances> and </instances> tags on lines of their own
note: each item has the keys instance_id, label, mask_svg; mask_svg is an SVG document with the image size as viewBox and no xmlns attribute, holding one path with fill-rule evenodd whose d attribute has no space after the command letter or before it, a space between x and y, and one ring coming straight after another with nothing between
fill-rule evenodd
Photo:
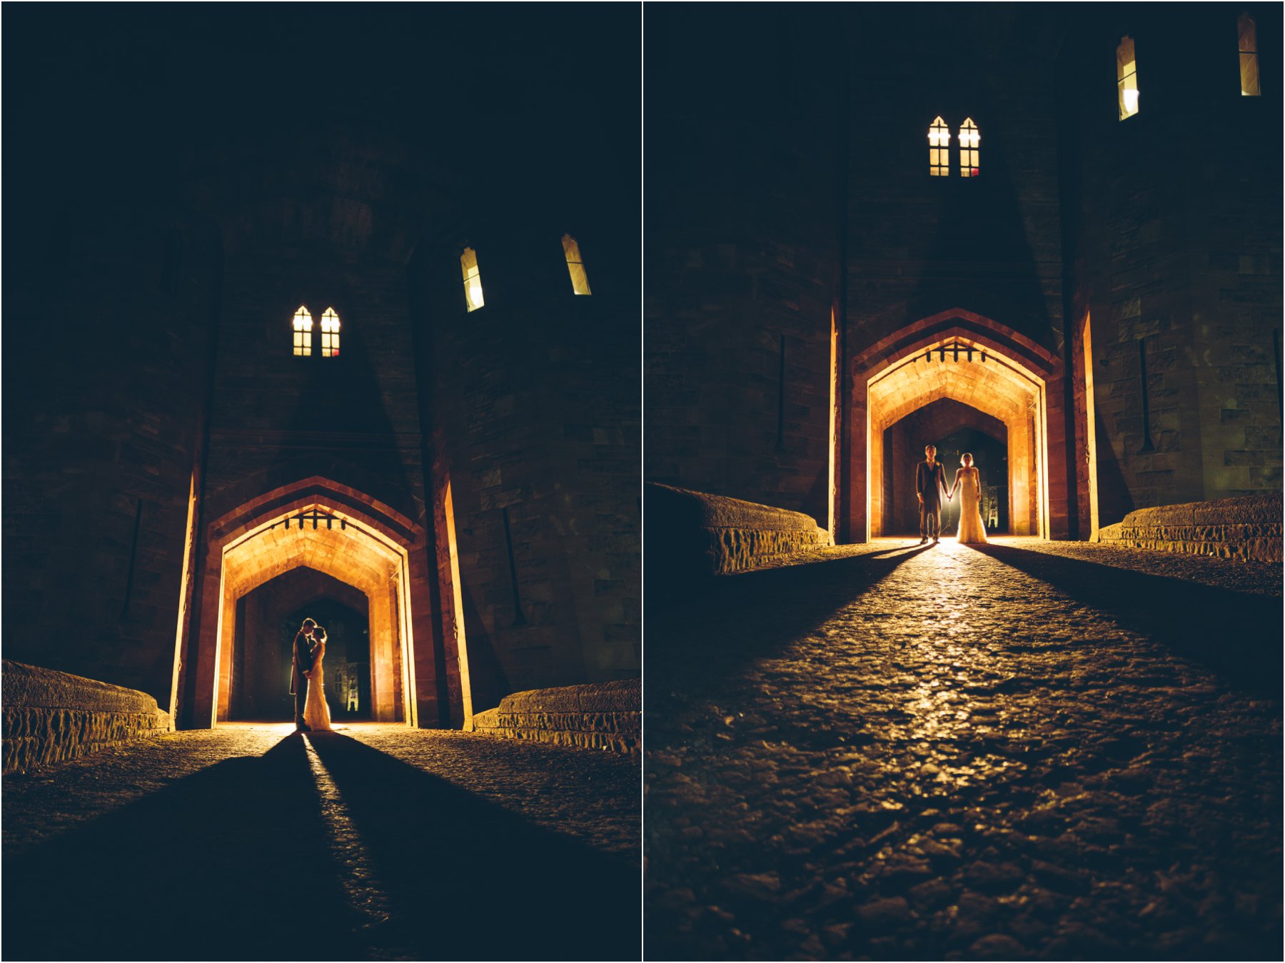
<instances>
[{"instance_id":1,"label":"glowing orange arched gateway around the embracing couple","mask_svg":"<svg viewBox=\"0 0 1285 963\"><path fill-rule=\"evenodd\" d=\"M195 665L188 667L195 672L186 685L193 724L229 719L238 600L301 567L337 579L368 600L374 721L464 721L464 647L436 651L441 633L434 633L429 580L437 572L429 571L427 544L421 526L396 509L320 477L276 489L212 522L197 586ZM459 683L447 687L447 674ZM445 712L442 702L450 703Z\"/></svg>"}]
</instances>

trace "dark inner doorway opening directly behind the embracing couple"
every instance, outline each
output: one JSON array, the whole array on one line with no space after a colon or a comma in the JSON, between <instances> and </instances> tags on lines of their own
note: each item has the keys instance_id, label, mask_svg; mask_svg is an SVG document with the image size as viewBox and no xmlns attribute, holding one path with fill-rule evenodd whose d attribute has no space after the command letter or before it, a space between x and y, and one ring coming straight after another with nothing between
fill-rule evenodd
<instances>
[{"instance_id":1,"label":"dark inner doorway opening directly behind the embracing couple","mask_svg":"<svg viewBox=\"0 0 1285 963\"><path fill-rule=\"evenodd\" d=\"M229 716L293 717L290 652L305 618L325 626L325 694L334 720L371 717L370 616L365 594L311 568L293 568L236 602Z\"/></svg>"}]
</instances>

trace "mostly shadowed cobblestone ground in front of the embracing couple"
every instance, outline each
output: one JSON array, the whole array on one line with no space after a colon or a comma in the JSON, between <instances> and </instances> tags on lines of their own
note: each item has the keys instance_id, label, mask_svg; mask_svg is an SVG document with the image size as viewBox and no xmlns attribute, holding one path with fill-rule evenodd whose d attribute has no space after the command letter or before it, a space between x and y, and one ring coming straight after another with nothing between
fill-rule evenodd
<instances>
[{"instance_id":1,"label":"mostly shadowed cobblestone ground in front of the embracing couple","mask_svg":"<svg viewBox=\"0 0 1285 963\"><path fill-rule=\"evenodd\" d=\"M4 777L5 959L636 959L639 765L233 724Z\"/></svg>"}]
</instances>

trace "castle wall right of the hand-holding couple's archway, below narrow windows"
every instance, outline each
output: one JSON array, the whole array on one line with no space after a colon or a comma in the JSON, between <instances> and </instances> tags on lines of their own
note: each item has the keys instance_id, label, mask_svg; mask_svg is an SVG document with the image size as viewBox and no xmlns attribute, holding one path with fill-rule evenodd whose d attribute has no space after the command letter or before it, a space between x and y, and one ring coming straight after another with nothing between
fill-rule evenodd
<instances>
[{"instance_id":1,"label":"castle wall right of the hand-holding couple's archway, below narrow windows","mask_svg":"<svg viewBox=\"0 0 1285 963\"><path fill-rule=\"evenodd\" d=\"M1133 508L1281 486L1279 91L1241 96L1230 6L1123 9L1082 24L1065 82L1109 89L1136 42L1140 109L1068 98L1073 357L1094 355L1101 523ZM1259 36L1280 10L1255 8ZM1266 60L1264 60L1266 64ZM1275 145L1273 145L1275 144ZM1145 378L1144 378L1145 359ZM1077 372L1078 374L1079 372ZM1082 381L1077 445L1086 450ZM1087 486L1081 514L1087 517ZM1087 522L1082 526L1087 536Z\"/></svg>"}]
</instances>

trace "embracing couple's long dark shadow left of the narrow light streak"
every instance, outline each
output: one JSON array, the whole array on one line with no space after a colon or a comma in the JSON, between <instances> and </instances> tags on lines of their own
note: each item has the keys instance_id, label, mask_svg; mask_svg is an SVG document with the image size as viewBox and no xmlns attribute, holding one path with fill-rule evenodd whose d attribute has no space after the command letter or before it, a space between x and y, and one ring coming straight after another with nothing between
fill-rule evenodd
<instances>
[{"instance_id":1,"label":"embracing couple's long dark shadow left of the narrow light streak","mask_svg":"<svg viewBox=\"0 0 1285 963\"><path fill-rule=\"evenodd\" d=\"M5 959L359 958L303 743L4 860Z\"/></svg>"}]
</instances>

